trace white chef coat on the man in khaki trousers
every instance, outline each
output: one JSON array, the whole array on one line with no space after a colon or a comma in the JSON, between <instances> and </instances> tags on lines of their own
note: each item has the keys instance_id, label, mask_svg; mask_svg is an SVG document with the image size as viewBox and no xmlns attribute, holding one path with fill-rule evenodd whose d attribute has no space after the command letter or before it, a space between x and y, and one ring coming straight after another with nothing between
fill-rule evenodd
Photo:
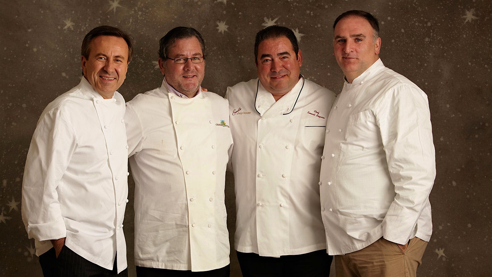
<instances>
[{"instance_id":1,"label":"white chef coat on the man in khaki trousers","mask_svg":"<svg viewBox=\"0 0 492 277\"><path fill-rule=\"evenodd\" d=\"M377 60L345 82L328 117L321 213L329 253L381 237L429 241L435 152L427 95Z\"/></svg>"}]
</instances>

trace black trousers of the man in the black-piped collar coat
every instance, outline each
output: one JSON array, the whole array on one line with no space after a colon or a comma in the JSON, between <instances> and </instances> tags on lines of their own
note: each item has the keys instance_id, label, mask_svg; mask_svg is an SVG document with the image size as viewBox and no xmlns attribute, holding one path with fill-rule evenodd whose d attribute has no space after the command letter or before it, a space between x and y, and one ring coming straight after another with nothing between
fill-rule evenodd
<instances>
[{"instance_id":1,"label":"black trousers of the man in the black-piped collar coat","mask_svg":"<svg viewBox=\"0 0 492 277\"><path fill-rule=\"evenodd\" d=\"M243 277L328 277L333 259L326 249L279 258L236 252Z\"/></svg>"}]
</instances>

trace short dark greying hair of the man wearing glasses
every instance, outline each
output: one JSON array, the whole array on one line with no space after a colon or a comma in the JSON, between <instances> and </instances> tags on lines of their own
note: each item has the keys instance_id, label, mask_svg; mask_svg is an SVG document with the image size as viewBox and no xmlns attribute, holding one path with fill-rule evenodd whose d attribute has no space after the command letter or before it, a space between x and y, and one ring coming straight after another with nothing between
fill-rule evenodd
<instances>
[{"instance_id":1,"label":"short dark greying hair of the man wearing glasses","mask_svg":"<svg viewBox=\"0 0 492 277\"><path fill-rule=\"evenodd\" d=\"M194 28L182 26L171 29L171 31L167 32L166 35L161 37L161 39L159 40L159 58L161 58L162 60L167 59L169 48L173 46L176 39L189 38L193 36L198 39L198 42L200 42L202 54L205 58L205 40L203 39L202 35L200 35L200 32L196 31Z\"/></svg>"}]
</instances>

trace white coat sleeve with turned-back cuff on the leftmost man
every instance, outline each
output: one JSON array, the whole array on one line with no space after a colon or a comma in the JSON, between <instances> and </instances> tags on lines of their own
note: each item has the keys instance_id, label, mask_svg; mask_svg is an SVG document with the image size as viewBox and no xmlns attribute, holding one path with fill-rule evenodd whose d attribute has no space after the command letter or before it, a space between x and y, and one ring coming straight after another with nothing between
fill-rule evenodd
<instances>
[{"instance_id":1,"label":"white coat sleeve with turned-back cuff on the leftmost man","mask_svg":"<svg viewBox=\"0 0 492 277\"><path fill-rule=\"evenodd\" d=\"M32 136L22 182L22 220L30 239L66 236L59 186L77 145L75 132L60 110L42 115Z\"/></svg>"}]
</instances>

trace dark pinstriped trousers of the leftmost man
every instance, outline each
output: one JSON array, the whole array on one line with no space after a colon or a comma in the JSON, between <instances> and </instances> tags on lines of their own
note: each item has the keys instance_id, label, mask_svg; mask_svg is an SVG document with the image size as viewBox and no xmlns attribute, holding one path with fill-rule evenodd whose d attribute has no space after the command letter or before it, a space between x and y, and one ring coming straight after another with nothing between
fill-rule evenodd
<instances>
[{"instance_id":1,"label":"dark pinstriped trousers of the leftmost man","mask_svg":"<svg viewBox=\"0 0 492 277\"><path fill-rule=\"evenodd\" d=\"M44 277L127 277L128 270L125 269L120 274L116 270L116 258L113 269L105 269L98 266L74 251L63 245L62 251L58 258L55 254L55 248L39 256L39 263L43 270Z\"/></svg>"}]
</instances>

